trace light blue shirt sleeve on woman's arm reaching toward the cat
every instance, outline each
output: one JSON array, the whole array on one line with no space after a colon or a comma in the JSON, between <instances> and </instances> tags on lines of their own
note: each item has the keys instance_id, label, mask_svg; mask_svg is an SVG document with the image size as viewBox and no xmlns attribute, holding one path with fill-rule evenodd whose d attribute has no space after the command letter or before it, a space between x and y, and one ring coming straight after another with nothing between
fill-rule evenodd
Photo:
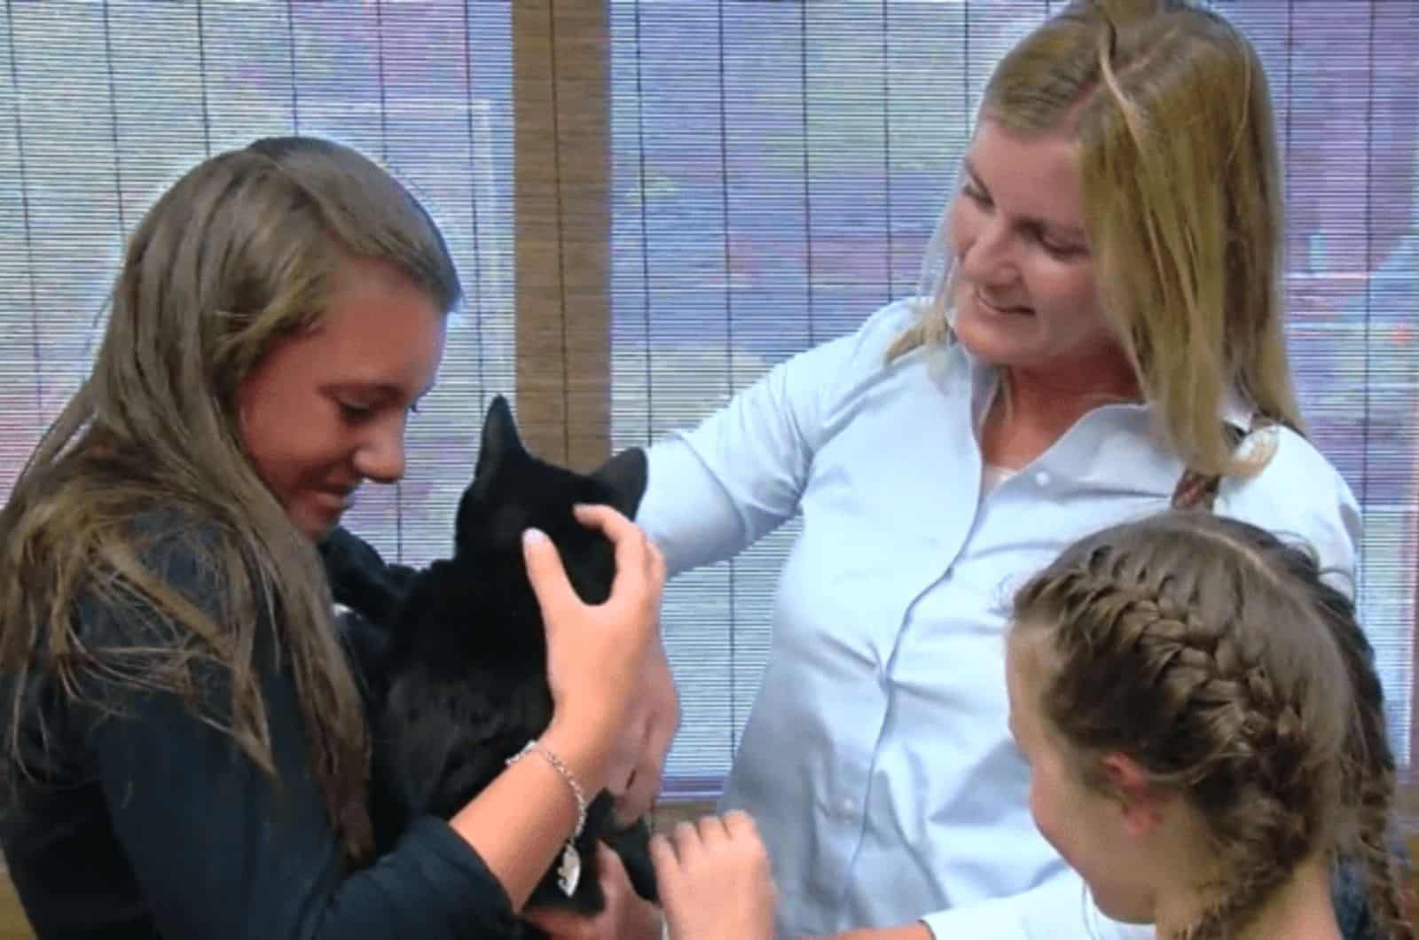
<instances>
[{"instance_id":1,"label":"light blue shirt sleeve on woman's arm reaching toward the cat","mask_svg":"<svg viewBox=\"0 0 1419 940\"><path fill-rule=\"evenodd\" d=\"M792 518L843 402L911 322L902 301L780 362L698 427L650 447L636 521L671 575L731 558Z\"/></svg>"}]
</instances>

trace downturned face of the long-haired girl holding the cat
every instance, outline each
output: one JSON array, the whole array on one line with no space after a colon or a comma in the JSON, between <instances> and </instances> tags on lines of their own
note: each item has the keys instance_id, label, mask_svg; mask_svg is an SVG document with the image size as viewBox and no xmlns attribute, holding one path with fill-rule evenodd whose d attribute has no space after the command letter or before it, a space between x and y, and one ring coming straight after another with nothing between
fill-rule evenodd
<instances>
[{"instance_id":1,"label":"downturned face of the long-haired girl holding the cat","mask_svg":"<svg viewBox=\"0 0 1419 940\"><path fill-rule=\"evenodd\" d=\"M280 339L237 388L247 453L311 538L335 527L360 483L404 474L404 426L438 372L444 324L393 266L346 261L316 325Z\"/></svg>"}]
</instances>

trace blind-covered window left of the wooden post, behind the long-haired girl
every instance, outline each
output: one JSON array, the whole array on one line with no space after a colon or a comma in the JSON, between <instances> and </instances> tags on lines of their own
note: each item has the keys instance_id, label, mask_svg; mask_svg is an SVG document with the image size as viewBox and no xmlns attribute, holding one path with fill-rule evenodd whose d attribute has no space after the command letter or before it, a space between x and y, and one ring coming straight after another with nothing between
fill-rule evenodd
<instances>
[{"instance_id":1,"label":"blind-covered window left of the wooden post, behind the long-haired girl","mask_svg":"<svg viewBox=\"0 0 1419 940\"><path fill-rule=\"evenodd\" d=\"M7 4L0 43L0 498L87 372L122 240L203 158L331 136L392 168L467 295L397 487L352 528L390 558L451 547L488 396L514 390L507 4Z\"/></svg>"}]
</instances>

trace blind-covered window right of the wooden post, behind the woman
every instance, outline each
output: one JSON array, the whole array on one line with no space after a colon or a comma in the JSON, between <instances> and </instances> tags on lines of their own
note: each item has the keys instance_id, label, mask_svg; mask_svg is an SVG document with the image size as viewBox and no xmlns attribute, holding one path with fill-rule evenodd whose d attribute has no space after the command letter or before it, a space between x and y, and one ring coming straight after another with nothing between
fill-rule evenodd
<instances>
[{"instance_id":1,"label":"blind-covered window right of the wooden post, behind the woman","mask_svg":"<svg viewBox=\"0 0 1419 940\"><path fill-rule=\"evenodd\" d=\"M917 287L993 64L1060 3L612 4L612 430L691 425ZM1419 10L1218 3L1259 47L1290 196L1293 368L1364 505L1364 622L1408 760L1419 534ZM1303 498L1297 494L1297 498ZM671 789L714 794L796 527L674 581Z\"/></svg>"}]
</instances>

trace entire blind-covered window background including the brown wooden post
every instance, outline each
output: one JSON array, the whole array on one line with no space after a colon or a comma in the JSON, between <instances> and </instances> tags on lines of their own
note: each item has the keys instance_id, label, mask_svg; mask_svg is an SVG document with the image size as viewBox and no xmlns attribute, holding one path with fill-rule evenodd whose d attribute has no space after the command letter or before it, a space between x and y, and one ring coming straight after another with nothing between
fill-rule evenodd
<instances>
[{"instance_id":1,"label":"entire blind-covered window background including the brown wooden post","mask_svg":"<svg viewBox=\"0 0 1419 940\"><path fill-rule=\"evenodd\" d=\"M623 447L687 426L912 291L993 62L1060 4L570 6L7 4L0 498L84 373L121 239L152 199L253 136L324 133L426 199L464 278L441 382L410 430L410 476L349 520L390 557L429 561L448 550L490 395L515 393L534 443L585 466L607 437ZM1293 365L1317 444L1364 504L1362 613L1408 760L1419 9L1216 6L1269 70L1287 149ZM576 133L599 143L563 146ZM718 789L793 531L667 592L685 709L671 792Z\"/></svg>"}]
</instances>

